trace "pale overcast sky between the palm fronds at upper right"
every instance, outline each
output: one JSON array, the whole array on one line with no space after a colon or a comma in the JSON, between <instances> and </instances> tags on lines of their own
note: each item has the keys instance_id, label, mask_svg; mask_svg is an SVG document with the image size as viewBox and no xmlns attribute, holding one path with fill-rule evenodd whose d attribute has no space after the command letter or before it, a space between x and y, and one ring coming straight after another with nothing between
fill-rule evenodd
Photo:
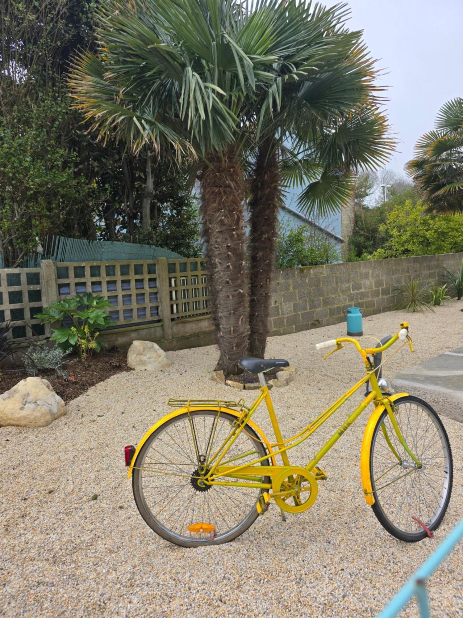
<instances>
[{"instance_id":1,"label":"pale overcast sky between the palm fronds at upper right","mask_svg":"<svg viewBox=\"0 0 463 618\"><path fill-rule=\"evenodd\" d=\"M336 2L324 0L327 6ZM350 30L363 30L386 75L386 114L398 138L390 167L403 174L439 108L463 96L463 0L348 0Z\"/></svg>"}]
</instances>

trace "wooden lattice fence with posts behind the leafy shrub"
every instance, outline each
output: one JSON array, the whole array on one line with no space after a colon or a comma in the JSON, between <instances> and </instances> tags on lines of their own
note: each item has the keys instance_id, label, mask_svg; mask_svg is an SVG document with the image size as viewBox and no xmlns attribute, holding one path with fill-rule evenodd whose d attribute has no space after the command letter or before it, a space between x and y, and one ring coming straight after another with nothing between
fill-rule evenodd
<instances>
[{"instance_id":1,"label":"wooden lattice fence with posts behind the leafy shrub","mask_svg":"<svg viewBox=\"0 0 463 618\"><path fill-rule=\"evenodd\" d=\"M204 262L182 258L133 261L60 262L40 268L0 269L0 323L14 321L9 337L49 336L35 314L62 298L91 292L104 296L113 329L162 326L172 338L172 323L207 317L209 287Z\"/></svg>"}]
</instances>

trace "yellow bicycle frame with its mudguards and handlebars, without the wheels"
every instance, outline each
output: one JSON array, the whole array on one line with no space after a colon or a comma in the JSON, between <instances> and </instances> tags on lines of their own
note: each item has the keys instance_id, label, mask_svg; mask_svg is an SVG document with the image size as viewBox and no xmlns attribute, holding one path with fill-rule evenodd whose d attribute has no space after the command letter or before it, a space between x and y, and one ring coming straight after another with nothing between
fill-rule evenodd
<instances>
[{"instance_id":1,"label":"yellow bicycle frame with its mudguards and handlebars, without the wheels","mask_svg":"<svg viewBox=\"0 0 463 618\"><path fill-rule=\"evenodd\" d=\"M401 328L407 329L408 324L401 324ZM402 331L400 331L402 332ZM220 402L220 401L202 401L202 400L194 400L194 402L190 402L190 400L183 400L183 404L185 407L181 407L174 412L168 414L166 417L161 418L161 420L157 421L155 425L153 425L150 430L144 435L141 442L138 444L133 457L131 458L130 467L128 470L128 478L130 478L132 470L134 468L134 464L136 462L136 457L141 450L144 442L151 436L151 434L156 431L156 429L161 426L166 421L170 420L173 417L177 417L179 415L183 415L185 413L188 414L190 418L190 413L196 410L201 411L204 409L207 410L215 410L217 411L217 420L214 421L214 425L211 428L211 437L213 438L214 426L217 423L220 413L224 412L228 415L233 415L236 417L236 420L233 422L233 426L228 433L227 438L222 442L220 447L214 451L214 453L209 452L206 454L206 461L202 462L201 466L198 465L198 469L201 468L202 479L204 483L208 485L226 485L226 486L236 486L236 487L256 487L262 489L272 489L273 488L273 496L278 496L278 478L281 480L281 476L283 473L287 473L288 475L301 475L302 472L306 472L309 475L313 482L315 483L315 494L316 494L316 479L322 478L320 476L324 475L322 470L317 468L317 464L322 459L322 457L332 448L332 446L341 438L343 433L348 430L348 428L354 423L357 417L361 415L361 413L365 410L365 408L370 404L375 404L375 410L372 413L370 420L367 423L364 433L364 439L362 441L362 451L361 451L361 476L362 476L362 486L364 488L364 496L367 504L373 504L375 502L374 492L372 490L372 483L370 479L370 466L369 466L369 447L373 436L373 430L377 425L378 418L382 415L384 410L387 411L388 416L391 420L391 425L394 428L394 431L397 435L399 442L404 447L407 454L415 461L417 467L421 467L419 460L412 454L411 450L406 444L406 441L401 434L398 423L394 416L394 400L399 399L399 397L407 396L407 393L398 393L391 396L386 396L380 389L378 385L377 376L375 374L375 368L372 364L372 361L369 359L369 355L375 355L378 352L383 352L388 349L391 345L394 344L399 339L399 332L396 333L390 341L388 341L385 345L382 345L378 348L370 348L370 349L362 349L359 342L356 339L352 339L351 337L341 337L340 339L333 340L333 345L336 344L336 349L328 352L325 355L325 358L340 350L344 347L342 344L347 342L349 344L354 344L357 351L361 354L362 359L364 360L366 374L360 379L354 386L352 386L348 391L346 391L341 397L339 397L330 407L322 412L319 417L315 418L304 430L300 431L298 434L293 436L292 438L283 440L282 432L280 430L280 426L278 424L277 415L275 414L275 409L273 408L272 399L270 397L269 387L265 383L265 378L263 373L259 373L259 380L261 382L260 394L257 399L253 402L253 404L247 408L244 406L244 402ZM409 340L410 348L413 351L411 339L407 335L407 339ZM332 342L328 342L332 343ZM311 459L311 461L306 465L305 468L294 467L290 464L290 459L288 457L288 451L298 446L304 442L309 436L312 435L320 426L325 423L335 412L338 410L354 393L356 393L364 384L367 382L370 383L371 391L367 396L365 396L362 403L351 413L351 415L344 421L344 423L338 428L338 430L331 436L330 439L323 445L323 447L315 454L315 457ZM173 402L180 403L180 400L173 400ZM272 423L273 433L275 434L276 442L271 444L269 440L265 437L262 430L255 425L251 417L256 412L257 408L265 402L267 407L267 411L269 413L270 422ZM170 402L172 405L172 402ZM240 410L234 410L233 407L240 407ZM190 418L191 425L191 418ZM264 455L263 457L258 457L251 462L246 462L246 464L240 464L239 460L248 457L249 455L253 455L255 451L250 451L231 459L226 459L227 452L230 451L233 442L235 442L236 438L240 435L241 431L246 431L246 425L250 426L254 431L256 431L257 436L262 444L265 444L267 447L268 455ZM194 437L193 426L191 426L191 431ZM396 452L389 438L385 425L382 426L382 431L385 435L386 442L390 447L391 451L398 459L399 464L402 464L401 457ZM210 438L211 441L211 438ZM214 440L211 441L211 448ZM276 447L276 450L273 450L273 447ZM198 453L196 453L198 457ZM277 465L275 457L279 455L282 459L282 465ZM273 465L261 465L262 462L266 460L270 460ZM199 462L199 457L198 457ZM299 470L299 472L297 472ZM315 470L315 476L312 475L312 471ZM293 472L292 472L293 471ZM317 475L319 475L317 477ZM270 476L271 483L262 482L262 476ZM228 480L222 480L223 477L227 477ZM229 480L229 479L233 480ZM323 476L326 478L326 476ZM312 481L311 481L312 482Z\"/></svg>"}]
</instances>

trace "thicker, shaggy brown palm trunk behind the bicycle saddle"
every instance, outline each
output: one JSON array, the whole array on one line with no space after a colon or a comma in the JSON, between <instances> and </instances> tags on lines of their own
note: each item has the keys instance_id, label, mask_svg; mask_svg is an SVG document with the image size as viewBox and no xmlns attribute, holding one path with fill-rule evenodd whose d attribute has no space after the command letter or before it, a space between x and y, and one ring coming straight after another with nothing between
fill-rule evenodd
<instances>
[{"instance_id":1,"label":"thicker, shaggy brown palm trunk behind the bicycle saddle","mask_svg":"<svg viewBox=\"0 0 463 618\"><path fill-rule=\"evenodd\" d=\"M244 268L244 183L240 160L227 153L201 175L209 289L220 358L216 369L239 371L248 347L248 282Z\"/></svg>"}]
</instances>

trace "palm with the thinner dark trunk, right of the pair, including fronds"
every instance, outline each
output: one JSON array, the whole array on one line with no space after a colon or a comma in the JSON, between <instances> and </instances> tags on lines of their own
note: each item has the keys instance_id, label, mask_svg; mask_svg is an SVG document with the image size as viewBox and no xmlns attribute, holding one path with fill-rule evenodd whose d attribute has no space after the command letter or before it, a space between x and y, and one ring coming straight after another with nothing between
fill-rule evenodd
<instances>
[{"instance_id":1,"label":"palm with the thinner dark trunk, right of the pair, including fronds","mask_svg":"<svg viewBox=\"0 0 463 618\"><path fill-rule=\"evenodd\" d=\"M288 45L274 64L278 109L261 103L251 179L249 353L264 357L278 206L285 185L301 187L299 207L326 216L353 190L352 171L384 164L394 141L361 32L345 27L345 6L272 2L275 30ZM265 114L265 119L263 117Z\"/></svg>"}]
</instances>

